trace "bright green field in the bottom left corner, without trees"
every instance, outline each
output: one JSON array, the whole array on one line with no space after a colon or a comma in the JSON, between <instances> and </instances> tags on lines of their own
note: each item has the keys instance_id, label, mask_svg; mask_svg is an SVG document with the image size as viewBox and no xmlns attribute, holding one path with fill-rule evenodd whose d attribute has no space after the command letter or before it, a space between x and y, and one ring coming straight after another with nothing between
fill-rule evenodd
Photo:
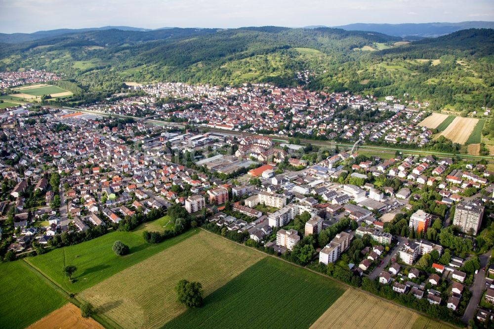
<instances>
[{"instance_id":1,"label":"bright green field in the bottom left corner, without trees","mask_svg":"<svg viewBox=\"0 0 494 329\"><path fill-rule=\"evenodd\" d=\"M0 264L0 328L25 328L67 300L23 260Z\"/></svg>"}]
</instances>

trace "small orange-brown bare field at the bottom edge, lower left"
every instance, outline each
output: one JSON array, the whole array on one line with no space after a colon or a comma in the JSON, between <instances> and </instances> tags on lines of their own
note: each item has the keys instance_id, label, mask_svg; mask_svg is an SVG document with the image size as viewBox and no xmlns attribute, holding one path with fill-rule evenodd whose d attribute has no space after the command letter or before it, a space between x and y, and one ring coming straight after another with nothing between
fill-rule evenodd
<instances>
[{"instance_id":1,"label":"small orange-brown bare field at the bottom edge, lower left","mask_svg":"<svg viewBox=\"0 0 494 329\"><path fill-rule=\"evenodd\" d=\"M99 323L92 318L83 318L79 307L72 303L65 304L58 310L55 310L38 320L28 327L28 329L92 329L101 328Z\"/></svg>"}]
</instances>

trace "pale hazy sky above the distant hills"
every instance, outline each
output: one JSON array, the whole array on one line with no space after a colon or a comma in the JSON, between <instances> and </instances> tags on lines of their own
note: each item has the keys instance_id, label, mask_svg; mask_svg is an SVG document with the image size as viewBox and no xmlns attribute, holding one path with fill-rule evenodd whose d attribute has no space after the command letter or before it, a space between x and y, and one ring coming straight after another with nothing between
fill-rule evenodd
<instances>
[{"instance_id":1,"label":"pale hazy sky above the distant hills","mask_svg":"<svg viewBox=\"0 0 494 329\"><path fill-rule=\"evenodd\" d=\"M0 32L494 21L494 0L0 0Z\"/></svg>"}]
</instances>

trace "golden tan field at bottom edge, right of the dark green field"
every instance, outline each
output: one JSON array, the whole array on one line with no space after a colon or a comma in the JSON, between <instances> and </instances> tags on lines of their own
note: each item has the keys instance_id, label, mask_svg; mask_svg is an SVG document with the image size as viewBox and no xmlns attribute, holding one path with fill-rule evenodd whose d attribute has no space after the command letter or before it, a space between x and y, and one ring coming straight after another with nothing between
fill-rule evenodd
<instances>
[{"instance_id":1,"label":"golden tan field at bottom edge, right of the dark green field","mask_svg":"<svg viewBox=\"0 0 494 329\"><path fill-rule=\"evenodd\" d=\"M310 328L451 328L433 320L430 321L438 326L431 327L433 324L429 322L429 319L412 310L369 293L349 288Z\"/></svg>"}]
</instances>

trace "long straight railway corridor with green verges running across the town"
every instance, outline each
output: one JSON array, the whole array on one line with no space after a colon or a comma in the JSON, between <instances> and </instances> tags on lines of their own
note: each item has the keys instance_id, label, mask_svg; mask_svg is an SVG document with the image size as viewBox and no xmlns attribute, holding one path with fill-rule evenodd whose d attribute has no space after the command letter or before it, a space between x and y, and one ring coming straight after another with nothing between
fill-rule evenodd
<instances>
[{"instance_id":1,"label":"long straight railway corridor with green verges running across the town","mask_svg":"<svg viewBox=\"0 0 494 329\"><path fill-rule=\"evenodd\" d=\"M81 110L81 109L76 109L76 108L69 108L69 107L63 107L64 110L68 111L73 111L73 112L83 112L83 113L88 113L88 114L93 114L93 115L100 115L100 116L112 116L112 117L121 117L121 118L132 118L135 121L140 121L140 122L147 122L155 125L162 125L162 126L170 126L170 127L180 127L184 128L185 124L183 123L172 123L172 122L165 122L165 121L160 121L160 120L153 120L153 119L148 119L148 118L139 118L139 117L132 117L132 116L124 116L124 115L118 115L118 114L113 114L113 113L106 113L106 112L100 112L100 111L89 111L89 110ZM225 130L225 129L218 129L218 128L211 128L211 127L206 127L206 126L198 126L199 128L204 128L207 129L208 131L215 131L215 132L221 132L225 135L233 135L233 136L250 136L250 135L257 135L253 133L248 133L248 132L240 132L240 131L231 131L231 130ZM276 138L277 140L280 141L285 141L288 143L288 139L284 139L283 136L271 136L267 135L273 138ZM304 144L313 144L317 146L347 146L347 147L352 147L353 144L347 144L347 143L334 143L331 141L317 141L317 140L310 140L310 139L300 139L300 141ZM395 153L396 151L400 151L405 155L413 155L413 154L433 154L438 157L443 157L443 158L453 158L455 156L460 156L460 157L466 157L466 158L473 158L473 159L487 159L487 160L492 160L494 157L489 157L489 156L474 156L474 155L468 155L468 154L453 154L453 153L441 153L441 152L433 152L433 151L422 151L422 150L410 150L410 149L398 149L398 148L392 148L392 147L382 147L382 146L371 146L371 145L359 145L359 149L365 149L365 150L383 150L382 152L387 152L387 153Z\"/></svg>"}]
</instances>

